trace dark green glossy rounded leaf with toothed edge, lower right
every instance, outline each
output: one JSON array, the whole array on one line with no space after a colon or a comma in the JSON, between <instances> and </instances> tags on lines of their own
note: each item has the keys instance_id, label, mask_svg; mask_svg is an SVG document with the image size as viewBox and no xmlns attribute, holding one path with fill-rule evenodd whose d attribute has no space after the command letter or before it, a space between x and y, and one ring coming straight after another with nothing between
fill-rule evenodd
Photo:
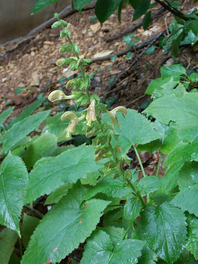
<instances>
[{"instance_id":1,"label":"dark green glossy rounded leaf with toothed edge, lower right","mask_svg":"<svg viewBox=\"0 0 198 264\"><path fill-rule=\"evenodd\" d=\"M164 202L159 208L147 206L141 213L141 231L149 247L172 264L180 256L186 240L185 215Z\"/></svg>"}]
</instances>

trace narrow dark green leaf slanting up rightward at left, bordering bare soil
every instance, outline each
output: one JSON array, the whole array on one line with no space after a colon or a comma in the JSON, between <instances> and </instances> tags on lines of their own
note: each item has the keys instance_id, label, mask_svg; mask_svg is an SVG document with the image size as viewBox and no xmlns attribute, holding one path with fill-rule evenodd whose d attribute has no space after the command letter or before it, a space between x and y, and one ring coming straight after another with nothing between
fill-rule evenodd
<instances>
[{"instance_id":1,"label":"narrow dark green leaf slanting up rightward at left, bordering bare soil","mask_svg":"<svg viewBox=\"0 0 198 264\"><path fill-rule=\"evenodd\" d=\"M10 129L11 126L21 120L23 120L24 118L30 116L32 113L34 113L34 111L40 106L42 105L42 103L44 102L44 100L46 99L45 96L41 97L39 100L36 100L35 102L31 103L29 106L25 107L23 109L23 111L21 111L21 113L13 118L10 123L7 126L7 129Z\"/></svg>"}]
</instances>

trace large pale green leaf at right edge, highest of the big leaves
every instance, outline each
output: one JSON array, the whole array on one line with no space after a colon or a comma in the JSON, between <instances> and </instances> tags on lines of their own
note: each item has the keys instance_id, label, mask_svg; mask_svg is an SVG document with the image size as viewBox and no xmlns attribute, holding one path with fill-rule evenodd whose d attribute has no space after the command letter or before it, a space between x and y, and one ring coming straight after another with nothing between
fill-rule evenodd
<instances>
[{"instance_id":1,"label":"large pale green leaf at right edge, highest of the big leaves","mask_svg":"<svg viewBox=\"0 0 198 264\"><path fill-rule=\"evenodd\" d=\"M181 128L198 125L198 94L185 92L181 96L171 94L154 100L145 112L159 122L168 125L177 122Z\"/></svg>"}]
</instances>

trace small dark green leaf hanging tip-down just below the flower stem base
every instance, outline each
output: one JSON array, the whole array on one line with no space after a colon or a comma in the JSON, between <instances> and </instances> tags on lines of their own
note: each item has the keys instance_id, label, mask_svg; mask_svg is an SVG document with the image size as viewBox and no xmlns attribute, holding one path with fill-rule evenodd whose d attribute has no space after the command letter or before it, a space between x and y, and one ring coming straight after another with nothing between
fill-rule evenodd
<instances>
[{"instance_id":1,"label":"small dark green leaf hanging tip-down just below the flower stem base","mask_svg":"<svg viewBox=\"0 0 198 264\"><path fill-rule=\"evenodd\" d=\"M129 221L130 225L133 226L134 220L140 214L142 203L137 197L129 197L124 206L124 218Z\"/></svg>"}]
</instances>

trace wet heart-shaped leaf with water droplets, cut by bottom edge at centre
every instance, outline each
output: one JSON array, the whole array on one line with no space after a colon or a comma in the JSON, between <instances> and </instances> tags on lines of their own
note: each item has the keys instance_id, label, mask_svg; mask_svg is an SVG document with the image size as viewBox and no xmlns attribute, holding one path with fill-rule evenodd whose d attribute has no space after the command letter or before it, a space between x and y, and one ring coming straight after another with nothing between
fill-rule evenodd
<instances>
[{"instance_id":1,"label":"wet heart-shaped leaf with water droplets, cut by bottom edge at centre","mask_svg":"<svg viewBox=\"0 0 198 264\"><path fill-rule=\"evenodd\" d=\"M135 264L144 244L145 241L125 239L121 242L118 240L114 247L110 235L102 230L95 230L87 239L81 264Z\"/></svg>"}]
</instances>

